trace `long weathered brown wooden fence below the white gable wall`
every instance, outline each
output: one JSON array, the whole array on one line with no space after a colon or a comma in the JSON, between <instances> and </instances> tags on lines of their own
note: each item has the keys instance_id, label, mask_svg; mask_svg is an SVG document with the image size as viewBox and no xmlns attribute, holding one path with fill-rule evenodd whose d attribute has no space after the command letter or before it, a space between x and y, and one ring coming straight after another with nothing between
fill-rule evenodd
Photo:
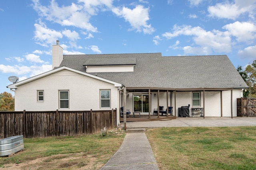
<instances>
[{"instance_id":1,"label":"long weathered brown wooden fence below the white gable wall","mask_svg":"<svg viewBox=\"0 0 256 170\"><path fill-rule=\"evenodd\" d=\"M100 111L0 111L0 139L76 136L116 127L116 109Z\"/></svg>"}]
</instances>

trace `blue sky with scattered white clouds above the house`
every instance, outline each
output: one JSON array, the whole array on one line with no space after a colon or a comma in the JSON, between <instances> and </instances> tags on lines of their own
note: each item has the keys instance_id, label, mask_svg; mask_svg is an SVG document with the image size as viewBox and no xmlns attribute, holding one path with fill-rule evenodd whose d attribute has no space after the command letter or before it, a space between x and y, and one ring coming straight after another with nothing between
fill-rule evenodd
<instances>
[{"instance_id":1,"label":"blue sky with scattered white clouds above the house","mask_svg":"<svg viewBox=\"0 0 256 170\"><path fill-rule=\"evenodd\" d=\"M0 93L9 76L52 69L64 54L228 55L256 59L256 0L1 0Z\"/></svg>"}]
</instances>

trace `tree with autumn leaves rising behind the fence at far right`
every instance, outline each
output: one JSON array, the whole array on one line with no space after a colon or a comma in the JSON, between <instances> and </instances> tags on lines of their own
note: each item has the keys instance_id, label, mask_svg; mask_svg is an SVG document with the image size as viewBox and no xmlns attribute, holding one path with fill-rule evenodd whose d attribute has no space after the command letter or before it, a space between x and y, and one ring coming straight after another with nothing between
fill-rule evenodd
<instances>
[{"instance_id":1,"label":"tree with autumn leaves rising behind the fence at far right","mask_svg":"<svg viewBox=\"0 0 256 170\"><path fill-rule=\"evenodd\" d=\"M245 72L247 74L246 83L249 86L249 97L256 97L256 60L253 61L252 64L248 64L245 68Z\"/></svg>"}]
</instances>

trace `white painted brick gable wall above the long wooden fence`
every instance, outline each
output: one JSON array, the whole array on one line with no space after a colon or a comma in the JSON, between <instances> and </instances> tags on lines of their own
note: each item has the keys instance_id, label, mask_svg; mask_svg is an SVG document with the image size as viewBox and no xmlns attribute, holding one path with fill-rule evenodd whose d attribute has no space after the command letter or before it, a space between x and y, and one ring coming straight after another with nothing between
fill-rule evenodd
<instances>
[{"instance_id":1,"label":"white painted brick gable wall above the long wooden fence","mask_svg":"<svg viewBox=\"0 0 256 170\"><path fill-rule=\"evenodd\" d=\"M114 84L62 70L18 86L15 92L15 111L59 109L59 90L69 90L68 110L101 110L100 89L111 90L111 108L118 108L118 90ZM44 90L44 102L37 102L37 90Z\"/></svg>"}]
</instances>

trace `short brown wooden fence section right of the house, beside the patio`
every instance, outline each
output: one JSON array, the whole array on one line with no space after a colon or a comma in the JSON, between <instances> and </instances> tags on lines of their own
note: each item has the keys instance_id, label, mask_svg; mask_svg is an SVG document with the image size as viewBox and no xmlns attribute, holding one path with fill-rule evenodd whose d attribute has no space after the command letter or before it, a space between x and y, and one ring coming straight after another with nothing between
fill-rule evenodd
<instances>
[{"instance_id":1,"label":"short brown wooden fence section right of the house, beside the patio","mask_svg":"<svg viewBox=\"0 0 256 170\"><path fill-rule=\"evenodd\" d=\"M256 116L256 98L237 98L237 116Z\"/></svg>"}]
</instances>

